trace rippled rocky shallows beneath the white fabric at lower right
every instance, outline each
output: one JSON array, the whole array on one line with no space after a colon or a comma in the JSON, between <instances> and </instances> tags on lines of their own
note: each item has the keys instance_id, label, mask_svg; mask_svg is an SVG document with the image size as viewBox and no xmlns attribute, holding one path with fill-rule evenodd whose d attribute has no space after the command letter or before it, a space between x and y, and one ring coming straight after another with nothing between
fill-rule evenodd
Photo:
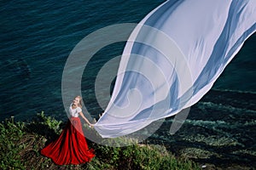
<instances>
[{"instance_id":1,"label":"rippled rocky shallows beneath the white fabric at lower right","mask_svg":"<svg viewBox=\"0 0 256 170\"><path fill-rule=\"evenodd\" d=\"M255 94L212 90L173 135L172 122L167 118L148 141L208 169L256 169Z\"/></svg>"}]
</instances>

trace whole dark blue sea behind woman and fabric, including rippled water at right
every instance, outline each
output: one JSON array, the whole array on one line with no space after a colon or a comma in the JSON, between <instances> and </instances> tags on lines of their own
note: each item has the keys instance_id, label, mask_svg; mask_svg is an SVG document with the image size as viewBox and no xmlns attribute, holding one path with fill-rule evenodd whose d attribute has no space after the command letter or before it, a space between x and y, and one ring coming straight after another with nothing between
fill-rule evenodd
<instances>
[{"instance_id":1,"label":"whole dark blue sea behind woman and fabric, including rippled water at right","mask_svg":"<svg viewBox=\"0 0 256 170\"><path fill-rule=\"evenodd\" d=\"M105 26L138 23L163 2L0 1L0 121L9 116L15 116L15 120L26 121L41 111L57 119L67 120L61 99L61 77L67 57L75 45L91 32ZM202 136L212 135L219 140L216 143L211 142L213 139L209 140L209 144L205 142L208 145L238 145L242 153L249 155L249 162L255 160L256 138L252 135L255 133L253 128L256 127L255 44L256 34L247 39L212 90L192 107L181 132L186 132L186 126L190 132L193 130L189 126L198 127L196 129L200 129L201 136L198 136L195 129L195 136L181 139L181 133L175 137L176 142L182 140L188 146L191 140L208 141L208 137ZM84 72L84 105L96 119L98 113L102 112L94 94L96 73L104 62L122 54L124 45L125 42L119 42L103 48L93 57L87 72ZM167 119L166 122L168 121L172 122L172 119ZM167 123L166 128L168 127ZM162 130L153 135L152 139L177 144L166 138L168 134L164 133ZM244 143L251 145L243 148L242 144L246 145ZM170 150L177 151L172 147ZM214 149L207 151L212 150ZM184 153L188 155L189 151ZM232 153L231 158L242 157L239 151L229 153Z\"/></svg>"}]
</instances>

